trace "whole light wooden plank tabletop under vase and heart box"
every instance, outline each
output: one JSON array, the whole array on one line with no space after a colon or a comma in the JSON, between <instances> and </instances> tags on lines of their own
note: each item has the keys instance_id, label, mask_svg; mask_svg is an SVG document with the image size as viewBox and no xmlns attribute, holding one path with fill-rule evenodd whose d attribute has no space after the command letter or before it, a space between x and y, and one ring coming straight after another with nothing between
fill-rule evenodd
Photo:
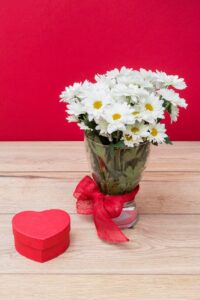
<instances>
[{"instance_id":1,"label":"whole light wooden plank tabletop under vase and heart box","mask_svg":"<svg viewBox=\"0 0 200 300\"><path fill-rule=\"evenodd\" d=\"M0 143L0 299L199 300L200 142L152 147L126 245L103 243L76 215L88 172L82 142ZM50 208L70 212L71 246L40 264L14 250L11 218Z\"/></svg>"}]
</instances>

